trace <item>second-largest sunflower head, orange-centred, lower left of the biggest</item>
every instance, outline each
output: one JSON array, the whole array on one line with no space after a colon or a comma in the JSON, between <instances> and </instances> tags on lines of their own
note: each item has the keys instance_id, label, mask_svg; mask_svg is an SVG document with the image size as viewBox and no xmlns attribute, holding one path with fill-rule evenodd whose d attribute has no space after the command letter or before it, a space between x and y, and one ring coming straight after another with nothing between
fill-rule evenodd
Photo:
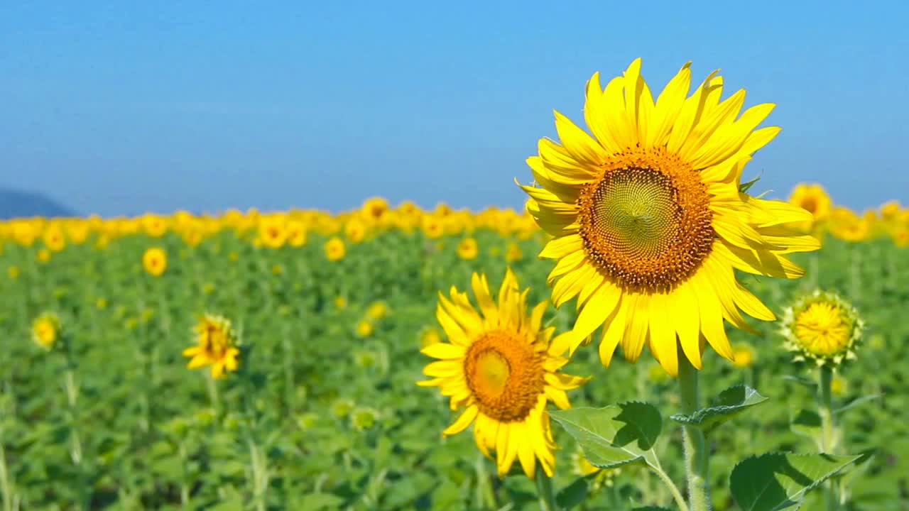
<instances>
[{"instance_id":1,"label":"second-largest sunflower head, orange-centred, lower left of the biggest","mask_svg":"<svg viewBox=\"0 0 909 511\"><path fill-rule=\"evenodd\" d=\"M499 476L508 472L515 457L528 477L534 476L537 459L552 476L554 441L546 404L570 407L565 391L587 378L558 372L568 359L556 351L557 343L550 343L554 327L542 326L546 303L528 316L529 289L519 289L510 269L497 306L485 276L474 273L471 284L480 312L454 287L450 298L439 295L436 316L451 342L423 347L423 354L439 360L423 370L432 379L417 385L441 387L442 395L451 398L452 410L466 407L443 435L473 423L476 446L486 456L495 450Z\"/></svg>"}]
</instances>

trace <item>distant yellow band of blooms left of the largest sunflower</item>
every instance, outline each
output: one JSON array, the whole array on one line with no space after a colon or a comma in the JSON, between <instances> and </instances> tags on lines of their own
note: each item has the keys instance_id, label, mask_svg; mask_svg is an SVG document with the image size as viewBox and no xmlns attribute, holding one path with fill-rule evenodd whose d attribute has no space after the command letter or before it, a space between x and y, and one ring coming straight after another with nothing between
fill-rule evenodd
<instances>
[{"instance_id":1,"label":"distant yellow band of blooms left of the largest sunflower","mask_svg":"<svg viewBox=\"0 0 909 511\"><path fill-rule=\"evenodd\" d=\"M228 210L221 215L192 215L180 211L174 215L147 214L135 218L16 218L0 221L0 245L5 241L23 246L38 246L50 254L66 245L91 242L99 249L111 240L126 235L153 238L173 233L186 245L199 245L206 237L222 231L233 231L255 246L281 248L306 244L309 233L331 236L326 247L329 259L343 258L344 246L355 245L389 230L422 231L429 238L461 235L479 228L492 229L503 235L524 238L537 231L530 215L514 209L488 207L480 212L454 210L437 205L423 210L412 202L391 207L381 197L369 198L359 209L333 215L318 210L291 210L262 213L255 208L246 212Z\"/></svg>"}]
</instances>

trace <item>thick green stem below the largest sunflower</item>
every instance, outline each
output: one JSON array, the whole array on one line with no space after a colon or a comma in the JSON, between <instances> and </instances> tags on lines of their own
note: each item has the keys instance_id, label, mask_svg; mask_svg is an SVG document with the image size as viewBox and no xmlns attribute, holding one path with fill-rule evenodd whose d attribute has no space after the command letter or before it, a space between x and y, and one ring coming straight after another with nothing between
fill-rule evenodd
<instances>
[{"instance_id":1,"label":"thick green stem below the largest sunflower","mask_svg":"<svg viewBox=\"0 0 909 511\"><path fill-rule=\"evenodd\" d=\"M679 348L679 391L684 414L694 413L700 406L697 369ZM704 432L694 426L683 426L684 468L688 479L688 502L691 511L709 511L710 488L707 486L707 442Z\"/></svg>"}]
</instances>

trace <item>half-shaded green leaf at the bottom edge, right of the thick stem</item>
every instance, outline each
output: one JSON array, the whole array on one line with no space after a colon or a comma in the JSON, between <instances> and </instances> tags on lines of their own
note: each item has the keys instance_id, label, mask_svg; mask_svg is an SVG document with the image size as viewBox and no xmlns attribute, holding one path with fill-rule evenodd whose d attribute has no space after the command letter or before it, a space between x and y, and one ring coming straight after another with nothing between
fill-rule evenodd
<instances>
[{"instance_id":1,"label":"half-shaded green leaf at the bottom edge, right of the thick stem","mask_svg":"<svg viewBox=\"0 0 909 511\"><path fill-rule=\"evenodd\" d=\"M794 510L802 506L809 490L861 457L788 453L752 456L735 466L729 489L744 511Z\"/></svg>"}]
</instances>

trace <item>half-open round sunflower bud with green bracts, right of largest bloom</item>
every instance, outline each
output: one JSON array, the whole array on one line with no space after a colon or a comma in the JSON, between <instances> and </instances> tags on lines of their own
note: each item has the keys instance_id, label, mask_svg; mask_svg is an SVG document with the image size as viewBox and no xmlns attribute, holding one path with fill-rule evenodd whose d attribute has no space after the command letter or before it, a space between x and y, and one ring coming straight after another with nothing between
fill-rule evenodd
<instances>
[{"instance_id":1,"label":"half-open round sunflower bud with green bracts, right of largest bloom","mask_svg":"<svg viewBox=\"0 0 909 511\"><path fill-rule=\"evenodd\" d=\"M855 358L864 321L843 298L821 290L803 296L786 308L781 333L784 347L796 362L814 360L818 366L839 366Z\"/></svg>"}]
</instances>

